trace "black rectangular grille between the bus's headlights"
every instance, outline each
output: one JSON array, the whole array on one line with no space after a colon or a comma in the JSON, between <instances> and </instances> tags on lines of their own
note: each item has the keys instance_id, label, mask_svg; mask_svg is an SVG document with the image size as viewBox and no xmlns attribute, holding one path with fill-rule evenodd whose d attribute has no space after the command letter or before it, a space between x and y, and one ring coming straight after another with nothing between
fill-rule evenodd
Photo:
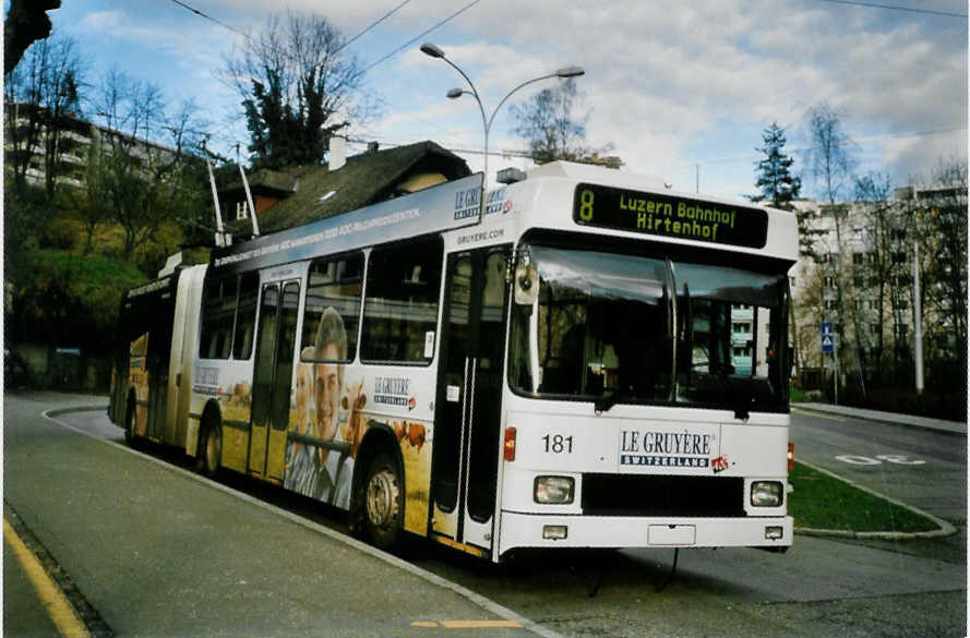
<instances>
[{"instance_id":1,"label":"black rectangular grille between the bus's headlights","mask_svg":"<svg viewBox=\"0 0 970 638\"><path fill-rule=\"evenodd\" d=\"M740 517L744 479L583 474L582 506L589 516Z\"/></svg>"}]
</instances>

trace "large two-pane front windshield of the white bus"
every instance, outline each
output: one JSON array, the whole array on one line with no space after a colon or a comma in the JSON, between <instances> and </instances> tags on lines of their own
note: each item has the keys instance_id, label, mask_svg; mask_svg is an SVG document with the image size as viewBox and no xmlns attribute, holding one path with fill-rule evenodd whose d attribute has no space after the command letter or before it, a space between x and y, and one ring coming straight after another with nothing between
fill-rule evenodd
<instances>
[{"instance_id":1,"label":"large two-pane front windshield of the white bus","mask_svg":"<svg viewBox=\"0 0 970 638\"><path fill-rule=\"evenodd\" d=\"M785 273L539 244L525 250L538 290L512 313L516 392L594 400L598 409L787 405Z\"/></svg>"}]
</instances>

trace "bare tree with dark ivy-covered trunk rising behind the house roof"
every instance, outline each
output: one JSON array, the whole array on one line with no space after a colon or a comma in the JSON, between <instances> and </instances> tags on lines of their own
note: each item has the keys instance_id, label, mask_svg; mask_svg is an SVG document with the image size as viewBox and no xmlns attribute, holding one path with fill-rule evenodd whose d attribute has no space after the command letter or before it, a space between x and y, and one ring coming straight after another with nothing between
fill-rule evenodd
<instances>
[{"instance_id":1,"label":"bare tree with dark ivy-covered trunk rising behind the house roof","mask_svg":"<svg viewBox=\"0 0 970 638\"><path fill-rule=\"evenodd\" d=\"M254 167L322 161L330 137L371 110L354 96L362 77L357 60L319 15L271 16L226 60L224 77L242 100Z\"/></svg>"}]
</instances>

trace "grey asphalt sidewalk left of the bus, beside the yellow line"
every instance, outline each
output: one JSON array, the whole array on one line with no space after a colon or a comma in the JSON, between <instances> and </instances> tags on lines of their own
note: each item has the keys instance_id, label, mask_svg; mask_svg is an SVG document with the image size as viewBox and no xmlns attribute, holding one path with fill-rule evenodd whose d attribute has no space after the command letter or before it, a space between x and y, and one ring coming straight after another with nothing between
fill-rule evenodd
<instances>
[{"instance_id":1,"label":"grey asphalt sidewalk left of the bus, beside the yellow line","mask_svg":"<svg viewBox=\"0 0 970 638\"><path fill-rule=\"evenodd\" d=\"M556 636L395 556L38 416L64 402L4 396L4 499L115 635ZM44 634L29 585L7 575L5 602L16 594L33 615L4 635Z\"/></svg>"}]
</instances>

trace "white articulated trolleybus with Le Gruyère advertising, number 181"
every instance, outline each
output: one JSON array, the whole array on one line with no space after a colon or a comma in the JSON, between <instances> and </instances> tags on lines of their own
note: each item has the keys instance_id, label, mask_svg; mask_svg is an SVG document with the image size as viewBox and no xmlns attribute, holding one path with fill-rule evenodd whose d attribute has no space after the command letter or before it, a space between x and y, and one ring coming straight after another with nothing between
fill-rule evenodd
<instances>
[{"instance_id":1,"label":"white articulated trolleybus with Le Gruy\u00e8re advertising, number 181","mask_svg":"<svg viewBox=\"0 0 970 638\"><path fill-rule=\"evenodd\" d=\"M379 546L787 549L794 216L566 162L517 177L127 291L112 420Z\"/></svg>"}]
</instances>

